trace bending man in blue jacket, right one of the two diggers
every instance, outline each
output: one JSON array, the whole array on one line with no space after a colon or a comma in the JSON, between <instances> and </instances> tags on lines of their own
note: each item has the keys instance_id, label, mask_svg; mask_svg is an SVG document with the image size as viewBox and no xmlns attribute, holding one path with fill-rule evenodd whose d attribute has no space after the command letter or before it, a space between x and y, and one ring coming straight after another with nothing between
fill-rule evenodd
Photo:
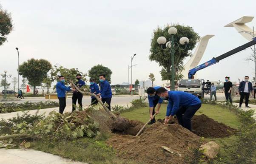
<instances>
[{"instance_id":1,"label":"bending man in blue jacket, right one of the two diggers","mask_svg":"<svg viewBox=\"0 0 256 164\"><path fill-rule=\"evenodd\" d=\"M168 98L165 124L176 115L179 124L191 131L191 118L201 107L198 97L183 91L168 91L165 88L156 90L161 99Z\"/></svg>"}]
</instances>

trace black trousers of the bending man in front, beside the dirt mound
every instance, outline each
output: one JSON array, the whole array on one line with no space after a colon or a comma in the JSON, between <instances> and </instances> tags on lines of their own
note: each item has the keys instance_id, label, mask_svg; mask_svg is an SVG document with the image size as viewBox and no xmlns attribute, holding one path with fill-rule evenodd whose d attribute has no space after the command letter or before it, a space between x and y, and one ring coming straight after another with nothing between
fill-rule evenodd
<instances>
[{"instance_id":1,"label":"black trousers of the bending man in front, beside the dirt mound","mask_svg":"<svg viewBox=\"0 0 256 164\"><path fill-rule=\"evenodd\" d=\"M187 128L191 131L191 119L196 113L197 110L201 107L201 103L198 105L191 105L188 107L180 107L176 113L176 117L179 121L179 124L182 127Z\"/></svg>"}]
</instances>

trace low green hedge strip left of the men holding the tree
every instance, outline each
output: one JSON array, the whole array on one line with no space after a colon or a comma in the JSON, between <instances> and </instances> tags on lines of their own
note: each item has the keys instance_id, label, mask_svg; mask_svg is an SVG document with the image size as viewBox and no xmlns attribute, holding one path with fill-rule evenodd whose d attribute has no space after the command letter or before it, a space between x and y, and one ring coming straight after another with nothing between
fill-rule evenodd
<instances>
[{"instance_id":1,"label":"low green hedge strip left of the men holding the tree","mask_svg":"<svg viewBox=\"0 0 256 164\"><path fill-rule=\"evenodd\" d=\"M58 107L59 103L54 101L47 102L24 102L24 103L0 103L0 113L10 113L23 110L44 109Z\"/></svg>"}]
</instances>

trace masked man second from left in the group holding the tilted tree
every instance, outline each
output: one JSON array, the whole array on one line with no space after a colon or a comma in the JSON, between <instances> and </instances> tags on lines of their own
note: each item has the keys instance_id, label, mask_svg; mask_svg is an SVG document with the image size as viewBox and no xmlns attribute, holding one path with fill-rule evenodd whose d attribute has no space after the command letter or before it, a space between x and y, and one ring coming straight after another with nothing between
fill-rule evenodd
<instances>
[{"instance_id":1,"label":"masked man second from left in the group holding the tilted tree","mask_svg":"<svg viewBox=\"0 0 256 164\"><path fill-rule=\"evenodd\" d=\"M85 85L85 82L82 81L81 79L82 79L82 75L81 74L77 74L77 80L75 82L75 85L79 89L82 88L82 86ZM75 90L73 92L73 95L72 95L72 112L74 110L76 110L77 100L78 100L79 107L82 108L82 93L80 93L79 91Z\"/></svg>"}]
</instances>

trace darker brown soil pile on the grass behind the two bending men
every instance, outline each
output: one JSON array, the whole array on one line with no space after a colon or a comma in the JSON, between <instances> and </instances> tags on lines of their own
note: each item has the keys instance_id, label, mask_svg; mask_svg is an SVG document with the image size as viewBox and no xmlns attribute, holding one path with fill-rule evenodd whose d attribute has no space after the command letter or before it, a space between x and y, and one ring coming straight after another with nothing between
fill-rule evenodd
<instances>
[{"instance_id":1,"label":"darker brown soil pile on the grass behind the two bending men","mask_svg":"<svg viewBox=\"0 0 256 164\"><path fill-rule=\"evenodd\" d=\"M164 122L164 119L158 119L158 122ZM169 124L178 124L176 118L170 120ZM216 122L210 117L202 115L194 115L191 119L192 132L198 136L210 137L210 138L221 138L232 136L236 129L229 127L223 123Z\"/></svg>"}]
</instances>

